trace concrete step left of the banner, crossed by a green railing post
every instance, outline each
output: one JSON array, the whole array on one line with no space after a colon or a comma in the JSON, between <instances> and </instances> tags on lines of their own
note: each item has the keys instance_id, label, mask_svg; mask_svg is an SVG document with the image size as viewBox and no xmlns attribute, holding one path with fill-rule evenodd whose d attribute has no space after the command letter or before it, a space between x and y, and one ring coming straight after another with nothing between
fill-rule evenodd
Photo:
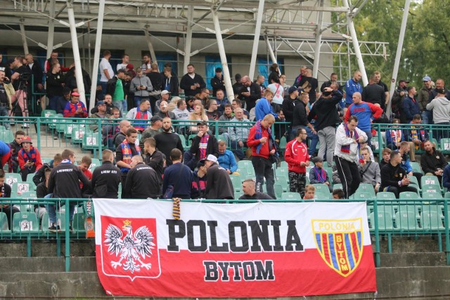
<instances>
[{"instance_id":1,"label":"concrete step left of the banner, crossed by a green railing post","mask_svg":"<svg viewBox=\"0 0 450 300\"><path fill-rule=\"evenodd\" d=\"M70 257L71 272L96 272L94 256ZM64 257L1 257L0 273L64 272Z\"/></svg>"}]
</instances>

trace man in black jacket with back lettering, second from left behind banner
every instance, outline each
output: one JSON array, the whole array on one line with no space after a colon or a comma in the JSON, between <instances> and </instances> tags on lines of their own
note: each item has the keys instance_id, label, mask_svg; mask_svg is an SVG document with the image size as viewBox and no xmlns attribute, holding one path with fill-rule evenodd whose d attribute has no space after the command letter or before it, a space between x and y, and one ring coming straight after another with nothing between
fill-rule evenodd
<instances>
[{"instance_id":1,"label":"man in black jacket with back lettering, second from left behind banner","mask_svg":"<svg viewBox=\"0 0 450 300\"><path fill-rule=\"evenodd\" d=\"M101 153L103 164L94 169L91 180L91 194L93 198L117 199L119 183L121 180L120 169L113 164L114 153L111 150L103 150Z\"/></svg>"}]
</instances>

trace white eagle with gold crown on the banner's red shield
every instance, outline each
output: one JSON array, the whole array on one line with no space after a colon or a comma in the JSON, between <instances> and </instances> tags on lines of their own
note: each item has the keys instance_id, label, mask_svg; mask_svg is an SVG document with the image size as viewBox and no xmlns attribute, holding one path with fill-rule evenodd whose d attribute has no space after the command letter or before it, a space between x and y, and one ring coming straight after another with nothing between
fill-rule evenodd
<instances>
[{"instance_id":1,"label":"white eagle with gold crown on the banner's red shield","mask_svg":"<svg viewBox=\"0 0 450 300\"><path fill-rule=\"evenodd\" d=\"M115 256L120 253L120 260L111 261L111 266L113 268L122 266L122 261L125 260L123 268L131 271L131 273L140 271L141 267L150 270L152 264L144 263L142 259L153 255L151 250L155 246L153 234L146 226L141 226L133 235L133 227L131 227L131 221L129 220L124 221L122 229L127 231L127 235L123 239L122 230L113 224L110 224L105 231L106 239L104 243L108 246L108 252L115 254Z\"/></svg>"}]
</instances>

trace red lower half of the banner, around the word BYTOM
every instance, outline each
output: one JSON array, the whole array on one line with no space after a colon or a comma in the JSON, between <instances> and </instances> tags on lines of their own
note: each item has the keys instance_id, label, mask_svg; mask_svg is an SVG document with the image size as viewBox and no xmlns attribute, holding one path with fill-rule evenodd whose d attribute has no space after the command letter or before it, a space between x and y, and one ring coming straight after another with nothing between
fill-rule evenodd
<instances>
[{"instance_id":1,"label":"red lower half of the banner, around the word BYTOM","mask_svg":"<svg viewBox=\"0 0 450 300\"><path fill-rule=\"evenodd\" d=\"M105 246L104 246L105 247ZM371 245L361 263L346 278L326 265L317 249L304 252L192 253L160 249L156 278L117 276L103 272L102 249L96 246L98 276L107 294L159 297L278 297L375 292ZM271 262L273 273L255 270L255 263ZM205 271L205 263L216 263ZM244 268L237 265L245 263ZM221 263L219 266L218 263ZM228 263L228 265L227 265ZM233 266L230 264L234 263ZM264 265L264 263L266 263ZM226 267L228 266L228 268ZM238 272L236 272L236 269ZM225 272L223 270L226 270ZM273 278L267 277L273 275ZM257 280L257 278L263 278Z\"/></svg>"}]
</instances>

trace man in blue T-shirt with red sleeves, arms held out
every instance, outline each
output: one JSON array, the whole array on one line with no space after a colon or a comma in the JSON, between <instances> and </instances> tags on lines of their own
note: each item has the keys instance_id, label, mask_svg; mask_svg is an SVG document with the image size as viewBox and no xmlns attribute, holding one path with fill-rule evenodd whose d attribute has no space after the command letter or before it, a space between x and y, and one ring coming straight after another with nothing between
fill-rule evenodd
<instances>
[{"instance_id":1,"label":"man in blue T-shirt with red sleeves, arms held out","mask_svg":"<svg viewBox=\"0 0 450 300\"><path fill-rule=\"evenodd\" d=\"M366 103L361 100L361 93L353 93L353 104L345 112L345 122L349 122L350 116L356 116L359 120L358 128L364 131L367 136L367 143L371 145L371 124L373 119L378 119L383 114L379 105Z\"/></svg>"}]
</instances>

